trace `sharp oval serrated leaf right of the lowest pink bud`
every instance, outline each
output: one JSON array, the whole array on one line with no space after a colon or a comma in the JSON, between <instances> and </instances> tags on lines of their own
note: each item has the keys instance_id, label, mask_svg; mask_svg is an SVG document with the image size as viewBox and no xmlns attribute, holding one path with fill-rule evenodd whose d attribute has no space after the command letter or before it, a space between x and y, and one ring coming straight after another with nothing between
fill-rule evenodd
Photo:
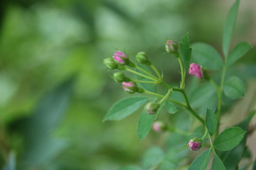
<instances>
[{"instance_id":1,"label":"sharp oval serrated leaf right of the lowest pink bud","mask_svg":"<svg viewBox=\"0 0 256 170\"><path fill-rule=\"evenodd\" d=\"M245 131L239 127L225 129L217 136L213 146L220 151L228 151L236 147L245 135Z\"/></svg>"}]
</instances>

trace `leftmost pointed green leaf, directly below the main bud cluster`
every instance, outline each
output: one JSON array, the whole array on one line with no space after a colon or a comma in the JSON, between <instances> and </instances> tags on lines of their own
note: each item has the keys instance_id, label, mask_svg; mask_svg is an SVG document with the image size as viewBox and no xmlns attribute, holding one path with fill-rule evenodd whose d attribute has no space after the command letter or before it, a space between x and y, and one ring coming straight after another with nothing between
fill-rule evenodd
<instances>
[{"instance_id":1,"label":"leftmost pointed green leaf, directly below the main bud cluster","mask_svg":"<svg viewBox=\"0 0 256 170\"><path fill-rule=\"evenodd\" d=\"M149 101L149 97L143 96L132 96L124 98L115 104L109 109L106 114L105 120L121 120L133 112L137 111L143 104Z\"/></svg>"}]
</instances>

